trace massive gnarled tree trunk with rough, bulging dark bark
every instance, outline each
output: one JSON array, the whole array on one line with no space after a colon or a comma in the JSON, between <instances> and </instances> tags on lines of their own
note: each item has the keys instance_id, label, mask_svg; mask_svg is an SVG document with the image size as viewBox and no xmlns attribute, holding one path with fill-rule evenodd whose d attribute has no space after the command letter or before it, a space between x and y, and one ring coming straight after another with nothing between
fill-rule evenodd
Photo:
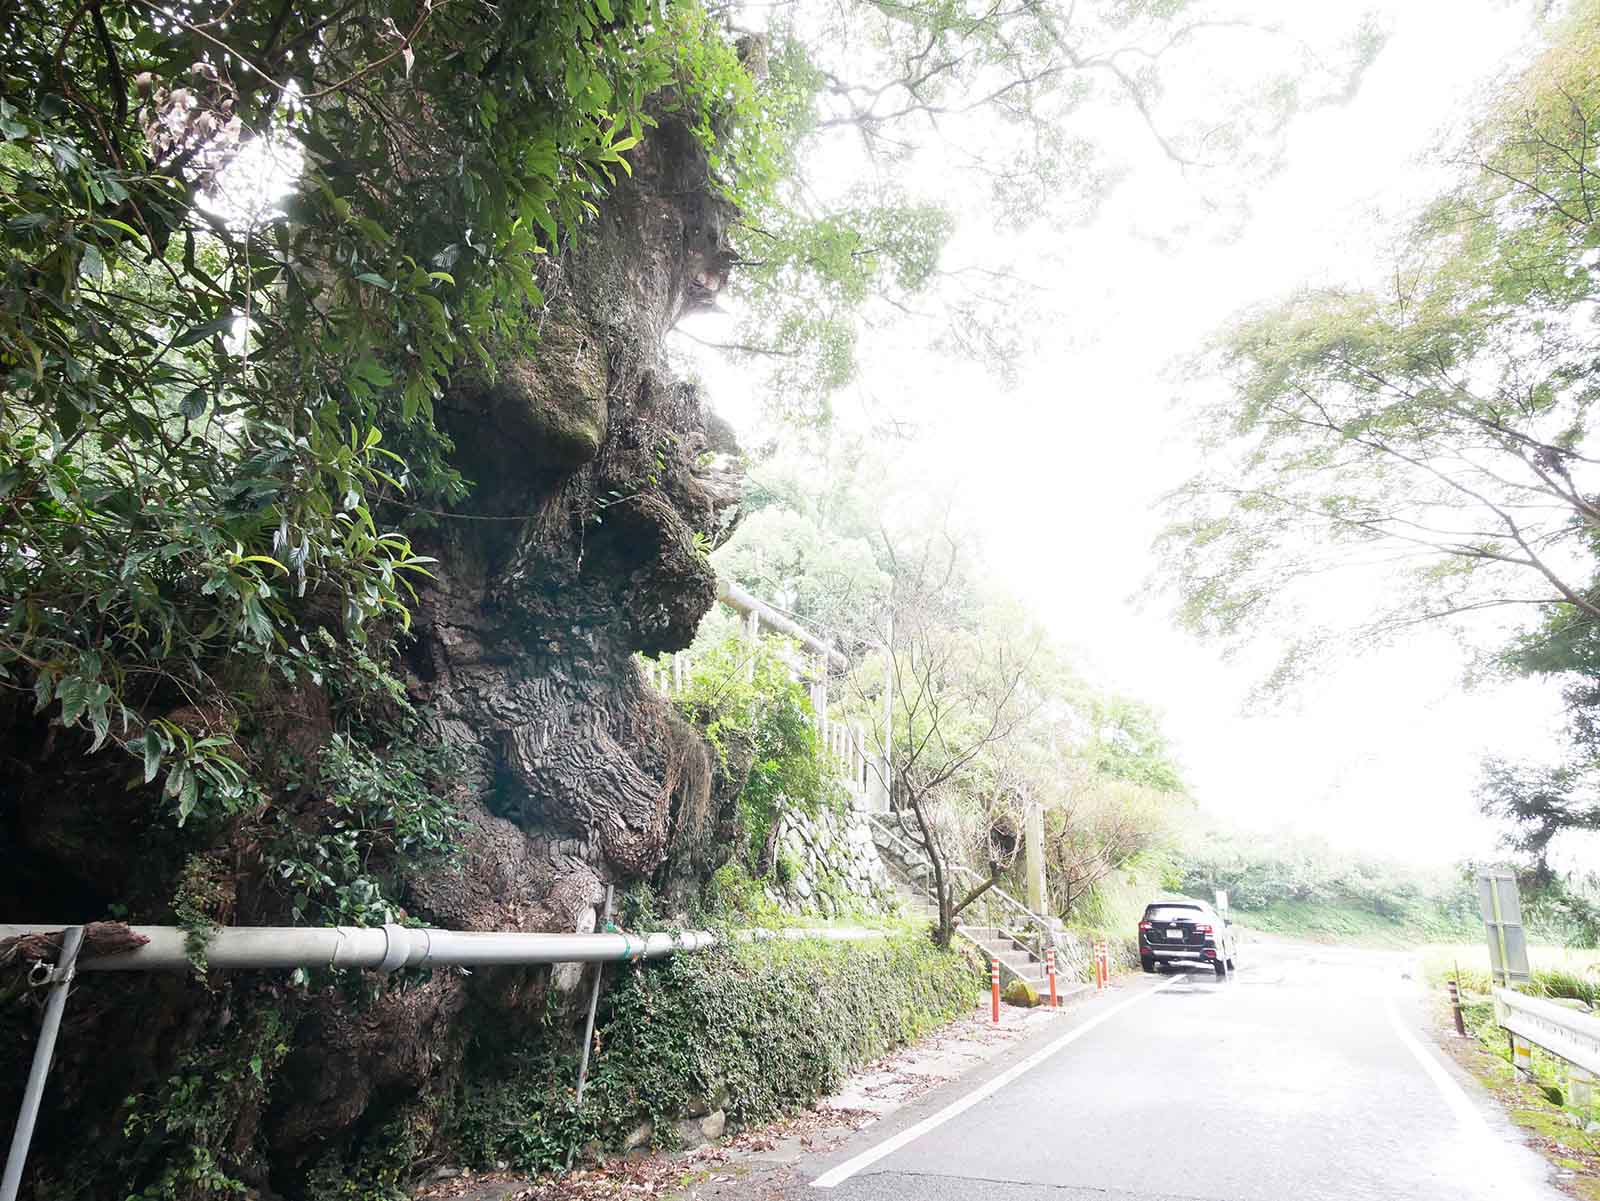
<instances>
[{"instance_id":1,"label":"massive gnarled tree trunk with rough, bulging dark bark","mask_svg":"<svg viewBox=\"0 0 1600 1201\"><path fill-rule=\"evenodd\" d=\"M539 342L509 350L493 384L459 381L440 408L475 488L416 539L438 558L438 582L422 593L400 670L466 755L454 792L470 825L459 867L406 881L410 915L430 924L587 931L606 883L653 878L682 892L733 841L742 780L712 763L632 659L686 646L715 603L694 533L715 533L736 499L715 470L736 448L667 373L661 339L722 286L730 214L698 144L670 118L634 168L581 249L547 270ZM301 689L282 708L282 736L315 753L326 697ZM173 920L178 872L195 848L147 790L126 788L128 776L125 761L86 756L26 707L0 710L0 912L72 921L118 902L131 921ZM258 848L224 835L206 862L213 916L283 920ZM242 1155L256 1164L248 1183L296 1195L307 1164L448 1094L474 1031L526 1028L552 988L570 1003L579 979L576 969L435 972L363 1006L333 990L304 1000L270 1099L232 1118L230 1142L254 1148ZM160 1087L186 1049L280 1004L277 987L246 974L210 990L147 976L82 984L32 1191L126 1193L133 1182L86 1172L83 1148L120 1145L123 1100ZM6 1022L18 1038L0 1051L0 1113L16 1110L37 1015L13 1004Z\"/></svg>"}]
</instances>

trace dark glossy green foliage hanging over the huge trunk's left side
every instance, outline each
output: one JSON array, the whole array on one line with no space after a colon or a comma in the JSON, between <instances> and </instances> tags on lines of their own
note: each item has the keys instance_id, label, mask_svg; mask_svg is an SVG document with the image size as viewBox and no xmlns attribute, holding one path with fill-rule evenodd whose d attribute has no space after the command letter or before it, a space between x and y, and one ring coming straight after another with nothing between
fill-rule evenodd
<instances>
[{"instance_id":1,"label":"dark glossy green foliage hanging over the huge trunk's left side","mask_svg":"<svg viewBox=\"0 0 1600 1201\"><path fill-rule=\"evenodd\" d=\"M242 676L408 620L397 523L464 485L446 379L525 329L648 106L717 146L752 82L645 0L24 5L0 46L0 686L179 820L238 808Z\"/></svg>"}]
</instances>

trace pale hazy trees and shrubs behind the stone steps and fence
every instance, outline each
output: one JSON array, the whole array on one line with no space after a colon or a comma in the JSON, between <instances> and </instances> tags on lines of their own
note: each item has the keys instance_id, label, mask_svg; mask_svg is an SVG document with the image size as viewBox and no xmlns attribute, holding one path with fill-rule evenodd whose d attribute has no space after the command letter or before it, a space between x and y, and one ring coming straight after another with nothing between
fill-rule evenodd
<instances>
[{"instance_id":1,"label":"pale hazy trees and shrubs behind the stone steps and fence","mask_svg":"<svg viewBox=\"0 0 1600 1201\"><path fill-rule=\"evenodd\" d=\"M834 715L867 731L874 756L890 747L893 804L933 862L946 936L990 881L1026 892L1018 852L1034 804L1051 904L1078 918L1112 873L1168 844L1182 777L1157 713L1072 668L987 582L938 493L901 485L859 441L818 437L757 469L714 558L854 660Z\"/></svg>"}]
</instances>

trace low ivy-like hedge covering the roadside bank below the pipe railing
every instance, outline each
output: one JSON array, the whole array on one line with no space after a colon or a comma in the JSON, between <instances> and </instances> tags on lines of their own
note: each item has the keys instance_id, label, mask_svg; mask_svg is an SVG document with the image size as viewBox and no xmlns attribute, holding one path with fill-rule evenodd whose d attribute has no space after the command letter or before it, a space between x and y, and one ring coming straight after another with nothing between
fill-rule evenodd
<instances>
[{"instance_id":1,"label":"low ivy-like hedge covering the roadside bank below the pipe railing","mask_svg":"<svg viewBox=\"0 0 1600 1201\"><path fill-rule=\"evenodd\" d=\"M542 1039L510 1054L486 1046L493 1062L469 1087L456 1135L469 1161L552 1167L590 1139L619 1145L642 1121L670 1145L691 1099L723 1108L731 1126L774 1118L966 1012L979 984L973 961L917 932L723 945L616 971L582 1111L568 1054Z\"/></svg>"}]
</instances>

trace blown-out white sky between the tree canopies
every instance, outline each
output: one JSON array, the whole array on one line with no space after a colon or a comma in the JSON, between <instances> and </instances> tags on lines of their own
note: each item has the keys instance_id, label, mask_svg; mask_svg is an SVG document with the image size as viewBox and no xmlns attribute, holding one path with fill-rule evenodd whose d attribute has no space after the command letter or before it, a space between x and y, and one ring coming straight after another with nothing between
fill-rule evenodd
<instances>
[{"instance_id":1,"label":"blown-out white sky between the tree canopies","mask_svg":"<svg viewBox=\"0 0 1600 1201\"><path fill-rule=\"evenodd\" d=\"M1438 176L1421 157L1530 37L1526 8L1506 0L1314 8L1325 29L1376 10L1392 34L1354 102L1296 122L1285 170L1254 195L1237 238L1150 237L1184 187L1154 155L1088 229L1035 229L1014 246L968 221L952 256L1021 253L1048 280L1038 312L1016 315L1042 326L1019 385L926 366L899 339L866 342L862 389L840 419L866 424L870 395L870 419L891 409L917 422L907 454L958 481L962 525L979 531L998 582L1078 649L1088 675L1163 712L1208 811L1413 860L1486 856L1478 756L1549 752L1550 689L1469 692L1461 649L1422 633L1314 681L1293 707L1245 716L1261 664L1224 662L1162 606L1133 603L1152 569L1152 505L1198 462L1173 357L1243 305L1349 281L1374 262L1374 213L1402 214L1427 194ZM1118 136L1125 118L1106 120ZM706 376L714 406L749 430L757 414L738 368L706 363Z\"/></svg>"}]
</instances>

